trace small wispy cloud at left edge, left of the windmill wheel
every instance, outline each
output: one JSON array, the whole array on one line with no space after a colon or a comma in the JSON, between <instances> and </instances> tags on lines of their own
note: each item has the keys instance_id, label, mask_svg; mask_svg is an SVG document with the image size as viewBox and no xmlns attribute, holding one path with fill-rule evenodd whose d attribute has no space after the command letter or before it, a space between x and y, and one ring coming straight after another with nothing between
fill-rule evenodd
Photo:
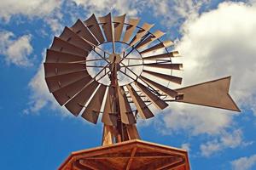
<instances>
[{"instance_id":1,"label":"small wispy cloud at left edge, left of the windmill wheel","mask_svg":"<svg viewBox=\"0 0 256 170\"><path fill-rule=\"evenodd\" d=\"M0 54L4 56L7 64L14 64L19 66L32 65L28 58L32 54L32 36L30 34L21 37L15 37L11 31L0 31Z\"/></svg>"}]
</instances>

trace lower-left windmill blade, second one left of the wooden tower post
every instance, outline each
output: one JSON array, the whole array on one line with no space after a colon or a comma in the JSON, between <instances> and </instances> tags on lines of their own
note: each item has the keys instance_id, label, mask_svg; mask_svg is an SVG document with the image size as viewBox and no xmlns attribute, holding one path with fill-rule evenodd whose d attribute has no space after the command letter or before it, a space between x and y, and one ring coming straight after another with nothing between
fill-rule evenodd
<instances>
[{"instance_id":1,"label":"lower-left windmill blade, second one left of the wooden tower post","mask_svg":"<svg viewBox=\"0 0 256 170\"><path fill-rule=\"evenodd\" d=\"M93 98L90 100L90 103L85 108L82 117L84 117L84 119L88 122L96 124L100 115L102 100L104 98L106 88L107 87L105 85L101 84L100 87L97 89L96 94L93 96Z\"/></svg>"}]
</instances>

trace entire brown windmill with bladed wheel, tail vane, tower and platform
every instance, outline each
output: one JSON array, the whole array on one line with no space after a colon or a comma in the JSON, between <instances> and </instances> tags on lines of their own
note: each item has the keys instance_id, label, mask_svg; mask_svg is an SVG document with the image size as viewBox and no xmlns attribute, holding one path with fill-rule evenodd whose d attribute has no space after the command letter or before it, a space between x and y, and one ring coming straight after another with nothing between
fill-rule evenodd
<instances>
[{"instance_id":1,"label":"entire brown windmill with bladed wheel, tail vane, tower and platform","mask_svg":"<svg viewBox=\"0 0 256 170\"><path fill-rule=\"evenodd\" d=\"M74 116L103 125L102 146L74 152L60 169L189 169L185 150L140 140L137 119L170 102L240 111L229 94L230 77L173 89L183 64L165 33L125 14L77 20L47 49L49 92ZM139 165L139 166L138 166Z\"/></svg>"}]
</instances>

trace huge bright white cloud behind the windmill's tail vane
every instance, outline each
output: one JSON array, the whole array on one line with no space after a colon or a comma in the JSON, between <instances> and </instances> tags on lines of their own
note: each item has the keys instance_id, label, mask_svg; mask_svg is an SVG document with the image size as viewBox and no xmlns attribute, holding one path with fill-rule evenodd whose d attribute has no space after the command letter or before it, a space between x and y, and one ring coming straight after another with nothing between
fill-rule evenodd
<instances>
[{"instance_id":1,"label":"huge bright white cloud behind the windmill's tail vane","mask_svg":"<svg viewBox=\"0 0 256 170\"><path fill-rule=\"evenodd\" d=\"M245 3L221 3L184 23L183 38L177 43L184 56L184 85L231 75L230 94L238 105L255 111L255 9ZM169 132L183 129L192 135L220 134L232 125L230 111L172 104L164 112Z\"/></svg>"}]
</instances>

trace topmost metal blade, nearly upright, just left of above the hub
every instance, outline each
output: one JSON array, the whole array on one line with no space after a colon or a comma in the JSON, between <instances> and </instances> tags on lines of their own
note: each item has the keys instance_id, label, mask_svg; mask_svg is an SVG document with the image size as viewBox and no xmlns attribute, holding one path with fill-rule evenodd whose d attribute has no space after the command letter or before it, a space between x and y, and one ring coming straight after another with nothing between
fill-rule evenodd
<instances>
[{"instance_id":1,"label":"topmost metal blade, nearly upright, just left of above the hub","mask_svg":"<svg viewBox=\"0 0 256 170\"><path fill-rule=\"evenodd\" d=\"M107 38L107 41L113 42L111 13L107 14L106 16L99 17L98 19L99 19L100 23L102 24L102 29L105 33L105 37Z\"/></svg>"}]
</instances>

